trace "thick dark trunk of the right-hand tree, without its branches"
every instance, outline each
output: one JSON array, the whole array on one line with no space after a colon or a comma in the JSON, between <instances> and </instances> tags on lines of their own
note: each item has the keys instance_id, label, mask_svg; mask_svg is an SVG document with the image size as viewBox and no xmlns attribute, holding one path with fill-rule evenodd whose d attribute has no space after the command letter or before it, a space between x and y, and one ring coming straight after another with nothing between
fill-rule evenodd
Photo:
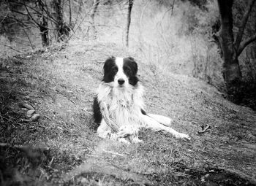
<instances>
[{"instance_id":1,"label":"thick dark trunk of the right-hand tree, without its branches","mask_svg":"<svg viewBox=\"0 0 256 186\"><path fill-rule=\"evenodd\" d=\"M222 50L223 73L227 88L241 82L241 69L238 53L234 46L232 5L233 0L218 0L221 16L221 27L218 33L219 45Z\"/></svg>"}]
</instances>

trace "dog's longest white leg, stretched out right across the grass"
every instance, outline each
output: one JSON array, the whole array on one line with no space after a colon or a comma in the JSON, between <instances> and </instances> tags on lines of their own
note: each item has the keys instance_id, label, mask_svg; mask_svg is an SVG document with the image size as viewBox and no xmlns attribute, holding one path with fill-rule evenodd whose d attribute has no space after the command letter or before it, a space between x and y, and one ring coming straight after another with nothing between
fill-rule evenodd
<instances>
[{"instance_id":1,"label":"dog's longest white leg, stretched out right across the grass","mask_svg":"<svg viewBox=\"0 0 256 186\"><path fill-rule=\"evenodd\" d=\"M146 123L146 128L150 128L153 131L167 131L176 138L180 139L188 139L190 140L190 137L185 133L179 133L175 131L173 128L166 127L165 125L162 125L161 123L158 123L157 120L154 120L152 117L149 117L148 115L143 115L143 120Z\"/></svg>"}]
</instances>

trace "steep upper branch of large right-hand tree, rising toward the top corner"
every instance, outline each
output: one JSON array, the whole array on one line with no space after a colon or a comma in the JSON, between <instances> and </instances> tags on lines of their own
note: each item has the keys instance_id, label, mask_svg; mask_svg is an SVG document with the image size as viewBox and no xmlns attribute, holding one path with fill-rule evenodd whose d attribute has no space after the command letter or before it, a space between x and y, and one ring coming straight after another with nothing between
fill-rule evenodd
<instances>
[{"instance_id":1,"label":"steep upper branch of large right-hand tree, rising toward the top corner","mask_svg":"<svg viewBox=\"0 0 256 186\"><path fill-rule=\"evenodd\" d=\"M241 20L241 26L239 26L238 29L238 34L236 35L236 42L235 42L235 47L238 50L239 44L241 43L243 34L244 34L244 28L246 26L247 20L249 18L249 13L252 11L253 4L255 4L256 0L250 1L248 6L246 7L246 11L244 12L244 17Z\"/></svg>"}]
</instances>

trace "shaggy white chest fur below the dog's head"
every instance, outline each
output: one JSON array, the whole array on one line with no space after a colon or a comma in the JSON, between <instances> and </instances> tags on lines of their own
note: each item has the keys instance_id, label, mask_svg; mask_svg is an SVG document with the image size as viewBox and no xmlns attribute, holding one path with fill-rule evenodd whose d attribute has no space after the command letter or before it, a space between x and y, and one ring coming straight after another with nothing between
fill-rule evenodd
<instances>
[{"instance_id":1,"label":"shaggy white chest fur below the dog's head","mask_svg":"<svg viewBox=\"0 0 256 186\"><path fill-rule=\"evenodd\" d=\"M98 88L98 101L107 105L109 117L119 128L141 128L141 110L143 103L143 86L115 88L102 83Z\"/></svg>"}]
</instances>

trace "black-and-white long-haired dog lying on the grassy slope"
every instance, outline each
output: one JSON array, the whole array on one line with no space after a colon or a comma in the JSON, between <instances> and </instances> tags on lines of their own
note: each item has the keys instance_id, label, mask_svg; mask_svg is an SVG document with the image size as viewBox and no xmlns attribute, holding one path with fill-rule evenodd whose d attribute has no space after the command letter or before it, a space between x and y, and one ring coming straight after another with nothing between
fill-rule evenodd
<instances>
[{"instance_id":1,"label":"black-and-white long-haired dog lying on the grassy slope","mask_svg":"<svg viewBox=\"0 0 256 186\"><path fill-rule=\"evenodd\" d=\"M170 128L169 117L145 112L143 85L138 80L138 65L133 58L108 58L103 70L104 77L94 98L94 123L99 125L97 133L100 137L140 142L138 131L151 128L190 139L187 134Z\"/></svg>"}]
</instances>

